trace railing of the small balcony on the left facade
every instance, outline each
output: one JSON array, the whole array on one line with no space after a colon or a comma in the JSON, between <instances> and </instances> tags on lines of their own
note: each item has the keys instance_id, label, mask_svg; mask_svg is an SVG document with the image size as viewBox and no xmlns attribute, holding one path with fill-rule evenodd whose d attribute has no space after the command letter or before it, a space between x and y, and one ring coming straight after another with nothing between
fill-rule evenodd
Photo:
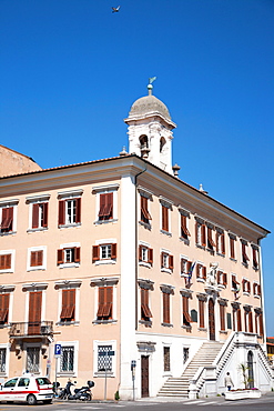
<instances>
[{"instance_id":1,"label":"railing of the small balcony on the left facade","mask_svg":"<svg viewBox=\"0 0 274 411\"><path fill-rule=\"evenodd\" d=\"M53 333L53 321L11 322L10 325L9 335L11 338L50 335Z\"/></svg>"}]
</instances>

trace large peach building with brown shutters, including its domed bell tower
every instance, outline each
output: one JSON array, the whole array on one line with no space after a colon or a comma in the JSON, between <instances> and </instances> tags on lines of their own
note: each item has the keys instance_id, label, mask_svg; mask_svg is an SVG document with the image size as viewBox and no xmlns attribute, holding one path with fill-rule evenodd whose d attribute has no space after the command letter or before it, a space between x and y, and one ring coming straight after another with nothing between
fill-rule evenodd
<instances>
[{"instance_id":1,"label":"large peach building with brown shutters, including its domed bell tower","mask_svg":"<svg viewBox=\"0 0 274 411\"><path fill-rule=\"evenodd\" d=\"M0 179L0 377L27 369L94 398L273 387L261 240L177 177L165 104L136 100L129 153ZM9 159L7 158L7 169ZM61 357L54 357L61 344ZM106 380L106 384L105 384Z\"/></svg>"}]
</instances>

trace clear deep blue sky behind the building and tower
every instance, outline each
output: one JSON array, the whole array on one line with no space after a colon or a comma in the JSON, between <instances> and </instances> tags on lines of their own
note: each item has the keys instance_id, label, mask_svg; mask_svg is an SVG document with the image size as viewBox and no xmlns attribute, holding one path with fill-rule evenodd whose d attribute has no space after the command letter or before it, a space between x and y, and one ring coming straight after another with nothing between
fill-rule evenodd
<instances>
[{"instance_id":1,"label":"clear deep blue sky behind the building and tower","mask_svg":"<svg viewBox=\"0 0 274 411\"><path fill-rule=\"evenodd\" d=\"M274 232L273 31L274 0L0 0L0 143L43 168L114 157L156 76L180 178Z\"/></svg>"}]
</instances>

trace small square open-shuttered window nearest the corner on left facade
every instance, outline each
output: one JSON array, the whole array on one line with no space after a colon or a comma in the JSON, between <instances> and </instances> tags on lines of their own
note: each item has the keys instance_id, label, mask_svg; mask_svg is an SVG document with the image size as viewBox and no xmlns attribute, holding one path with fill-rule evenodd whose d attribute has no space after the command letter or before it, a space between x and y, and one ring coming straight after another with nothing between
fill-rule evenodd
<instances>
[{"instance_id":1,"label":"small square open-shuttered window nearest the corner on left facade","mask_svg":"<svg viewBox=\"0 0 274 411\"><path fill-rule=\"evenodd\" d=\"M97 240L92 245L92 262L109 264L116 262L116 239Z\"/></svg>"}]
</instances>

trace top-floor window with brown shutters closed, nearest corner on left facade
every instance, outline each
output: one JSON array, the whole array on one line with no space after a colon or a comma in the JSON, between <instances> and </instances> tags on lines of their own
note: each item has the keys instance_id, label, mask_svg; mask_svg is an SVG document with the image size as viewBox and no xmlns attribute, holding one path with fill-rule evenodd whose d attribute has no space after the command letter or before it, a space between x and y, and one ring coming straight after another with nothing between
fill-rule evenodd
<instances>
[{"instance_id":1,"label":"top-floor window with brown shutters closed, nearest corner on left facade","mask_svg":"<svg viewBox=\"0 0 274 411\"><path fill-rule=\"evenodd\" d=\"M95 223L108 223L118 220L118 189L119 184L93 187L95 198Z\"/></svg>"}]
</instances>

